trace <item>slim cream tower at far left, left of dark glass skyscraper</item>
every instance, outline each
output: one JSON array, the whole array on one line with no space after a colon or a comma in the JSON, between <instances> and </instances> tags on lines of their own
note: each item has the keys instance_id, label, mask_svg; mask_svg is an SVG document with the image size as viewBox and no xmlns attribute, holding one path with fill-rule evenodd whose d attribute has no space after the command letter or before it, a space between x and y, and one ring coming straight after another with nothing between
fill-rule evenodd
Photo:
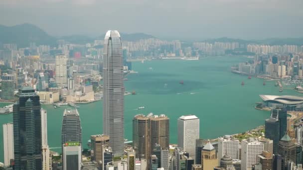
<instances>
[{"instance_id":1,"label":"slim cream tower at far left, left of dark glass skyscraper","mask_svg":"<svg viewBox=\"0 0 303 170\"><path fill-rule=\"evenodd\" d=\"M4 166L10 165L13 160L13 124L3 124L3 150L4 150Z\"/></svg>"}]
</instances>

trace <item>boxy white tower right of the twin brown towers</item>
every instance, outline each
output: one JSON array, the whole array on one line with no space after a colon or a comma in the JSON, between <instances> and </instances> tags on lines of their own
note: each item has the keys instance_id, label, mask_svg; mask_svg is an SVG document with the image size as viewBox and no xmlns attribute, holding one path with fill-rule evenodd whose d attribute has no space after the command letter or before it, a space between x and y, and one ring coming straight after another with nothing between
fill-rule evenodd
<instances>
[{"instance_id":1,"label":"boxy white tower right of the twin brown towers","mask_svg":"<svg viewBox=\"0 0 303 170\"><path fill-rule=\"evenodd\" d=\"M195 159L196 139L199 139L200 122L195 115L184 115L178 119L178 146Z\"/></svg>"}]
</instances>

